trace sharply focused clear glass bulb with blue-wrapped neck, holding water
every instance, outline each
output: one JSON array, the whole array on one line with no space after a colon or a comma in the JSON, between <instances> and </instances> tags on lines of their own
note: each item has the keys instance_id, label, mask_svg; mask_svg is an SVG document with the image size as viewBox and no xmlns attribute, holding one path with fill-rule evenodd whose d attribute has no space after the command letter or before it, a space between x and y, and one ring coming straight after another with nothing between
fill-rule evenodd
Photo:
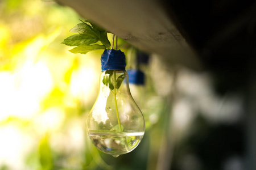
<instances>
[{"instance_id":1,"label":"sharply focused clear glass bulb with blue-wrapped neck, holding water","mask_svg":"<svg viewBox=\"0 0 256 170\"><path fill-rule=\"evenodd\" d=\"M145 122L129 89L121 50L105 50L101 56L100 92L89 113L87 130L94 146L115 158L141 142Z\"/></svg>"}]
</instances>

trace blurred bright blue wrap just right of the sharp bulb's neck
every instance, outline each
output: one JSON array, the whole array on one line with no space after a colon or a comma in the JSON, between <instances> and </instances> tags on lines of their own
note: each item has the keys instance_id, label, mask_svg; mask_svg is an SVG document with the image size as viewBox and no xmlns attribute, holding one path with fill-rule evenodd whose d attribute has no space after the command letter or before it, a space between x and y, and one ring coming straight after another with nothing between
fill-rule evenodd
<instances>
[{"instance_id":1,"label":"blurred bright blue wrap just right of the sharp bulb's neck","mask_svg":"<svg viewBox=\"0 0 256 170\"><path fill-rule=\"evenodd\" d=\"M129 83L131 84L144 84L144 73L141 70L128 70L127 74L129 76Z\"/></svg>"}]
</instances>

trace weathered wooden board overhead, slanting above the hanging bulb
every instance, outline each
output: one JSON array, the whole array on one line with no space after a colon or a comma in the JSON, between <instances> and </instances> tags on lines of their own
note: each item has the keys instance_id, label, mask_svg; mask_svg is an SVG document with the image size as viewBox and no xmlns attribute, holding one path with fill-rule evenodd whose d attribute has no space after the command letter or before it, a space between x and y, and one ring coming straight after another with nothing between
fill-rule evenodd
<instances>
[{"instance_id":1,"label":"weathered wooden board overhead, slanting above the hanging bulb","mask_svg":"<svg viewBox=\"0 0 256 170\"><path fill-rule=\"evenodd\" d=\"M151 0L85 1L57 0L75 9L109 32L148 53L156 53L168 65L184 65L200 69L195 51L188 45L163 4Z\"/></svg>"}]
</instances>

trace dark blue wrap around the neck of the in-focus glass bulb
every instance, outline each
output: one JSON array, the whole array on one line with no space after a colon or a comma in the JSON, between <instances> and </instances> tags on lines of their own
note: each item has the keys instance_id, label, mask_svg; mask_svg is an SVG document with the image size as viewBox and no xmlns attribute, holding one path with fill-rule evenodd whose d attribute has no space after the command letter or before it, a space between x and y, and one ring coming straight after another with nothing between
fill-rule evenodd
<instances>
[{"instance_id":1,"label":"dark blue wrap around the neck of the in-focus glass bulb","mask_svg":"<svg viewBox=\"0 0 256 170\"><path fill-rule=\"evenodd\" d=\"M121 50L104 50L101 55L101 71L123 70L125 71L125 53Z\"/></svg>"}]
</instances>

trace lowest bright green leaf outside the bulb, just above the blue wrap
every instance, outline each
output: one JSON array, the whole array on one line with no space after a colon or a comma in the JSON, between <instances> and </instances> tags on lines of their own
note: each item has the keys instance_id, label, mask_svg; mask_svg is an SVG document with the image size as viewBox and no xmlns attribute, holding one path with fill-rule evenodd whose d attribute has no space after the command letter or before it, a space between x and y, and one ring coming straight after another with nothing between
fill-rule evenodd
<instances>
[{"instance_id":1,"label":"lowest bright green leaf outside the bulb, just above the blue wrap","mask_svg":"<svg viewBox=\"0 0 256 170\"><path fill-rule=\"evenodd\" d=\"M69 50L69 52L74 53L74 54L77 54L77 53L86 54L88 52L91 52L93 50L98 50L98 49L106 49L106 47L104 45L98 45L98 44L79 45L79 46Z\"/></svg>"}]
</instances>

